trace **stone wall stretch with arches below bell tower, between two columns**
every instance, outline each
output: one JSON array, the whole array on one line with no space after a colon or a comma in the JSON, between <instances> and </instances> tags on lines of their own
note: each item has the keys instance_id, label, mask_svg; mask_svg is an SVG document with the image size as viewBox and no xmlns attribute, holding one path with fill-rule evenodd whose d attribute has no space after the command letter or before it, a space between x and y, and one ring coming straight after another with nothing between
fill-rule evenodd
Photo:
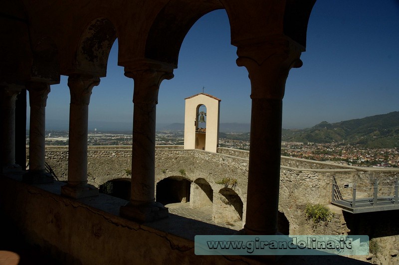
<instances>
[{"instance_id":1,"label":"stone wall stretch with arches below bell tower, between two columns","mask_svg":"<svg viewBox=\"0 0 399 265\"><path fill-rule=\"evenodd\" d=\"M184 178L194 183L191 196L193 205L205 203L205 191L200 192L198 188L201 183L209 184L213 193L213 221L225 223L226 218L229 218L230 221L245 222L248 159L195 149L157 149L155 182L166 178ZM230 179L230 182L226 179ZM227 197L226 192L229 194ZM234 207L239 203L241 207Z\"/></svg>"}]
</instances>

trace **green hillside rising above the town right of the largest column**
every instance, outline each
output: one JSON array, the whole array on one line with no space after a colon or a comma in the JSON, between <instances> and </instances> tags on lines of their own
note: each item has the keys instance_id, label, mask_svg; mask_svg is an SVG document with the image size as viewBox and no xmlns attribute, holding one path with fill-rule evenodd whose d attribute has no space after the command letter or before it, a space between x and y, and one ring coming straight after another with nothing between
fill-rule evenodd
<instances>
[{"instance_id":1,"label":"green hillside rising above the town right of the largest column","mask_svg":"<svg viewBox=\"0 0 399 265\"><path fill-rule=\"evenodd\" d=\"M321 122L303 130L282 130L283 141L331 143L344 141L372 148L399 147L399 112L339 123Z\"/></svg>"}]
</instances>

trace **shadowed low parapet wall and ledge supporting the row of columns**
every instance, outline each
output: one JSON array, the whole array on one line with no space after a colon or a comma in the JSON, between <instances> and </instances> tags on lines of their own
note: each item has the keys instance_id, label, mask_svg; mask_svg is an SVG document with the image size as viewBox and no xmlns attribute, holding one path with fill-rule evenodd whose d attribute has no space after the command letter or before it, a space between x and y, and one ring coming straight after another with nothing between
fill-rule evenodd
<instances>
[{"instance_id":1,"label":"shadowed low parapet wall and ledge supporting the row of columns","mask_svg":"<svg viewBox=\"0 0 399 265\"><path fill-rule=\"evenodd\" d=\"M177 215L140 224L119 216L125 200L106 194L72 200L60 196L62 182L34 186L21 179L0 177L0 212L55 264L263 264L250 256L195 255L195 235L233 230Z\"/></svg>"}]
</instances>

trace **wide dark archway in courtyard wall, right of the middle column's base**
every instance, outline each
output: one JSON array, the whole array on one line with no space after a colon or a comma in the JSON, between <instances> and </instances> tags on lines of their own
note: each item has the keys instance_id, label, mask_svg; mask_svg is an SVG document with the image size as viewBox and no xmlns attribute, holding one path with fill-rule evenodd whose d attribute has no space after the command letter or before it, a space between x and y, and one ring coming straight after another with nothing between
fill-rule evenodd
<instances>
[{"instance_id":1,"label":"wide dark archway in courtyard wall, right of the middle column's base","mask_svg":"<svg viewBox=\"0 0 399 265\"><path fill-rule=\"evenodd\" d=\"M156 201L163 205L190 201L191 180L182 176L171 176L157 183Z\"/></svg>"}]
</instances>

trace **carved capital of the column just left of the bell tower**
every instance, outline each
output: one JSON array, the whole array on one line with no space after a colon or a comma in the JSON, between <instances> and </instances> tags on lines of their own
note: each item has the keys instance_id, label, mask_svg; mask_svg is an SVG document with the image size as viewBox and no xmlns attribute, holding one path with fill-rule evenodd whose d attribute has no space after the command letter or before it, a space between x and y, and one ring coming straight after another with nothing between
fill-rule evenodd
<instances>
[{"instance_id":1,"label":"carved capital of the column just left of the bell tower","mask_svg":"<svg viewBox=\"0 0 399 265\"><path fill-rule=\"evenodd\" d=\"M173 66L149 59L136 60L125 66L125 76L133 78L133 103L158 104L161 82L174 77Z\"/></svg>"}]
</instances>

